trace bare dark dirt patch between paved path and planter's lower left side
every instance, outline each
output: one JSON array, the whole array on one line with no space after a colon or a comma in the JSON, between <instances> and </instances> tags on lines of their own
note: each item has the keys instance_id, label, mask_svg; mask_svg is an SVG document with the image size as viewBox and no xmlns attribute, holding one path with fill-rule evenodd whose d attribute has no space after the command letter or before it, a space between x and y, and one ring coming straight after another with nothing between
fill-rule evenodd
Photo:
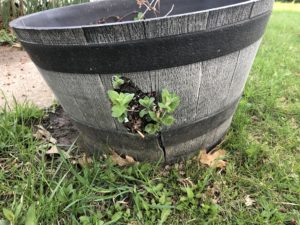
<instances>
[{"instance_id":1,"label":"bare dark dirt patch between paved path and planter's lower left side","mask_svg":"<svg viewBox=\"0 0 300 225\"><path fill-rule=\"evenodd\" d=\"M61 106L48 112L41 124L63 148L68 148L79 136L79 131Z\"/></svg>"}]
</instances>

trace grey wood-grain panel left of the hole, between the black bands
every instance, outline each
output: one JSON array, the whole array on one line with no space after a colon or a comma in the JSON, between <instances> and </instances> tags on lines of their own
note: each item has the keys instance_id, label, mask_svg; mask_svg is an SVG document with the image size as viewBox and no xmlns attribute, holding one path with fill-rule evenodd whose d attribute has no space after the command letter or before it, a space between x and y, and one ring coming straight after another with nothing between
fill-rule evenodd
<instances>
[{"instance_id":1,"label":"grey wood-grain panel left of the hole, between the black bands","mask_svg":"<svg viewBox=\"0 0 300 225\"><path fill-rule=\"evenodd\" d=\"M115 129L99 76L40 71L71 118L96 128Z\"/></svg>"}]
</instances>

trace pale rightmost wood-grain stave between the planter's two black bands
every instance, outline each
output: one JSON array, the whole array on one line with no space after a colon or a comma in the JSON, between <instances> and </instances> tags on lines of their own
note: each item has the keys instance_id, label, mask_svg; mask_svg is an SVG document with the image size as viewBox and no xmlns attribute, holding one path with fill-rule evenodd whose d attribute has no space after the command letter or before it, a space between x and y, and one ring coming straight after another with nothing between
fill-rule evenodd
<instances>
[{"instance_id":1,"label":"pale rightmost wood-grain stave between the planter's two black bands","mask_svg":"<svg viewBox=\"0 0 300 225\"><path fill-rule=\"evenodd\" d=\"M261 40L240 51L237 66L228 89L226 104L230 104L242 95L260 42Z\"/></svg>"}]
</instances>

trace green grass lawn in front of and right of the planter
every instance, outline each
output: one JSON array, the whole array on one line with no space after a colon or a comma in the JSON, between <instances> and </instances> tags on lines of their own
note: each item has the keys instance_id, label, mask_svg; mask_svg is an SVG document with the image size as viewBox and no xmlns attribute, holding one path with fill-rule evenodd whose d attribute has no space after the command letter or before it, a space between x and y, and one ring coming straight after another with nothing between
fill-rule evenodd
<instances>
[{"instance_id":1,"label":"green grass lawn in front of and right of the planter","mask_svg":"<svg viewBox=\"0 0 300 225\"><path fill-rule=\"evenodd\" d=\"M25 126L42 116L0 111L1 225L300 223L300 5L275 5L221 146L225 172L195 160L78 167L45 155Z\"/></svg>"}]
</instances>

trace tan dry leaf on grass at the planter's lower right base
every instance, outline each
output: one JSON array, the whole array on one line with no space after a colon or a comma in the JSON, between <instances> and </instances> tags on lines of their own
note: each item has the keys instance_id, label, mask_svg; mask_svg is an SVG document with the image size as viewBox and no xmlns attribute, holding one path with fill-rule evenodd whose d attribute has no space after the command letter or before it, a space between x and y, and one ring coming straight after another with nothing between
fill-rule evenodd
<instances>
[{"instance_id":1,"label":"tan dry leaf on grass at the planter's lower right base","mask_svg":"<svg viewBox=\"0 0 300 225\"><path fill-rule=\"evenodd\" d=\"M198 160L209 167L225 169L226 162L222 158L226 155L226 151L219 149L214 152L207 153L206 150L201 150L198 156Z\"/></svg>"}]
</instances>

